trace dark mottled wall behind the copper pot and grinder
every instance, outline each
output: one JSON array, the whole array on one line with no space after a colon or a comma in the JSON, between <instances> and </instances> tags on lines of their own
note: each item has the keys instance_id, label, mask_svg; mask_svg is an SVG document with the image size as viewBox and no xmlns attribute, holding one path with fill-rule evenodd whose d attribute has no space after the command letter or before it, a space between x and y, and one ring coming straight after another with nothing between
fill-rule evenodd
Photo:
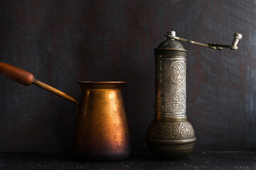
<instances>
[{"instance_id":1,"label":"dark mottled wall behind the copper pot and grinder","mask_svg":"<svg viewBox=\"0 0 256 170\"><path fill-rule=\"evenodd\" d=\"M154 118L154 48L181 38L187 115L196 151L256 150L255 1L0 1L0 62L81 97L76 81L127 81L122 89L132 145L146 151ZM0 152L71 152L76 105L0 77Z\"/></svg>"}]
</instances>

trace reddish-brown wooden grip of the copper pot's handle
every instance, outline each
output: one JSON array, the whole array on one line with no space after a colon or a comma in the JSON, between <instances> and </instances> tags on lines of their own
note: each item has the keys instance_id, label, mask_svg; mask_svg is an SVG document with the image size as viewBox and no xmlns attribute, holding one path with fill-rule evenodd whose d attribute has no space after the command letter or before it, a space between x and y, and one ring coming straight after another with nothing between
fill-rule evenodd
<instances>
[{"instance_id":1,"label":"reddish-brown wooden grip of the copper pot's handle","mask_svg":"<svg viewBox=\"0 0 256 170\"><path fill-rule=\"evenodd\" d=\"M34 80L33 74L30 72L4 62L0 62L0 74L25 86L31 85Z\"/></svg>"}]
</instances>

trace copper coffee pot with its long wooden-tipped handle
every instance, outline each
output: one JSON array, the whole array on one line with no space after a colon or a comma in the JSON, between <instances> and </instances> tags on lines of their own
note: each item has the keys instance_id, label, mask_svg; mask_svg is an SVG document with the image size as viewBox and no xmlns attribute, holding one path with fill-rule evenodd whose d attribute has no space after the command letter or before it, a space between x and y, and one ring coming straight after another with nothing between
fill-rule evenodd
<instances>
[{"instance_id":1,"label":"copper coffee pot with its long wooden-tipped handle","mask_svg":"<svg viewBox=\"0 0 256 170\"><path fill-rule=\"evenodd\" d=\"M75 149L78 158L92 161L127 159L132 153L121 88L125 81L79 81L82 100L34 79L33 74L0 62L0 74L23 85L34 84L78 104Z\"/></svg>"}]
</instances>

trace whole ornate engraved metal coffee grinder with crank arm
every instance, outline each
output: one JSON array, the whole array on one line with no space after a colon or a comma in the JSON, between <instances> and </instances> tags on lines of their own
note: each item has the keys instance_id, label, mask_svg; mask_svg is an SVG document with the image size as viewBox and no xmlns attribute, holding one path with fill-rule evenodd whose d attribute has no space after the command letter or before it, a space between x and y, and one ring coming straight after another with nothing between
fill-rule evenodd
<instances>
[{"instance_id":1,"label":"whole ornate engraved metal coffee grinder with crank arm","mask_svg":"<svg viewBox=\"0 0 256 170\"><path fill-rule=\"evenodd\" d=\"M155 116L146 134L150 152L164 159L186 157L193 151L196 142L195 132L186 116L186 54L187 50L177 40L195 45L223 50L228 47L238 50L242 38L234 34L232 45L203 44L176 37L169 31L167 40L154 50L156 69Z\"/></svg>"}]
</instances>

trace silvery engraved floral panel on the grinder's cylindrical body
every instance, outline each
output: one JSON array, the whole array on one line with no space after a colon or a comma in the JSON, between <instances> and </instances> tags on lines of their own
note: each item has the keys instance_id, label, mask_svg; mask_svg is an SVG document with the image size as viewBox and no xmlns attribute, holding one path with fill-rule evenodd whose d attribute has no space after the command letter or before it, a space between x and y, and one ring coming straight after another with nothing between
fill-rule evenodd
<instances>
[{"instance_id":1,"label":"silvery engraved floral panel on the grinder's cylindrical body","mask_svg":"<svg viewBox=\"0 0 256 170\"><path fill-rule=\"evenodd\" d=\"M156 81L156 114L186 115L186 62L156 61Z\"/></svg>"}]
</instances>

